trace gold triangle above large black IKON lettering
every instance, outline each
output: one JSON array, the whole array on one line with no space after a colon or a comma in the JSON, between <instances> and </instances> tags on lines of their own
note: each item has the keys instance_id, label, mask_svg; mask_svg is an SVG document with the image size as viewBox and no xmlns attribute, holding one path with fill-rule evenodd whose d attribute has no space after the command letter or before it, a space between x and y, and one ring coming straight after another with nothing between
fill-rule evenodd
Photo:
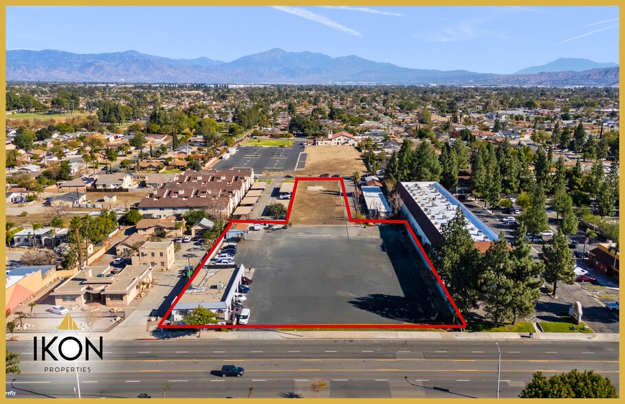
<instances>
[{"instance_id":1,"label":"gold triangle above large black IKON lettering","mask_svg":"<svg viewBox=\"0 0 625 404\"><path fill-rule=\"evenodd\" d=\"M76 322L69 315L69 313L61 322L61 326L58 327L59 330L78 330L78 326L76 326ZM58 342L57 342L58 341ZM33 347L33 355L34 360L45 361L47 359L46 355L50 357L53 361L58 361L59 357L65 359L66 361L74 361L83 355L85 352L85 359L89 360L89 353L91 351L94 354L102 359L102 337L99 338L98 346L96 346L91 340L85 337L84 341L80 341L77 337L52 337L50 341L46 341L45 337L41 337L41 359L39 359L39 350L40 344L39 339L34 337L33 339L34 347Z\"/></svg>"}]
</instances>

